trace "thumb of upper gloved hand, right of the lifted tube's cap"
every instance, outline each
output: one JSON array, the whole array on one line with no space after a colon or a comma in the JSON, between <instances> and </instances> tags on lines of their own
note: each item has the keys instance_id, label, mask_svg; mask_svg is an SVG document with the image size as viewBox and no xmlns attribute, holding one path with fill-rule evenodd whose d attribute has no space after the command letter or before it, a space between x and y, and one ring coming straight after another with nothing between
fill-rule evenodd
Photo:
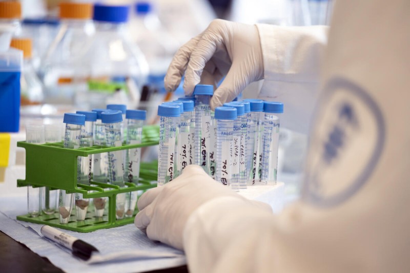
<instances>
[{"instance_id":1,"label":"thumb of upper gloved hand, right of the lifted tube's cap","mask_svg":"<svg viewBox=\"0 0 410 273\"><path fill-rule=\"evenodd\" d=\"M241 66L236 65L235 62L232 64L227 76L222 81L219 88L215 90L214 95L211 98L210 104L212 110L222 106L225 102L232 101L240 92L242 92L243 88L247 86L249 81L246 75L247 73L243 71Z\"/></svg>"}]
</instances>

